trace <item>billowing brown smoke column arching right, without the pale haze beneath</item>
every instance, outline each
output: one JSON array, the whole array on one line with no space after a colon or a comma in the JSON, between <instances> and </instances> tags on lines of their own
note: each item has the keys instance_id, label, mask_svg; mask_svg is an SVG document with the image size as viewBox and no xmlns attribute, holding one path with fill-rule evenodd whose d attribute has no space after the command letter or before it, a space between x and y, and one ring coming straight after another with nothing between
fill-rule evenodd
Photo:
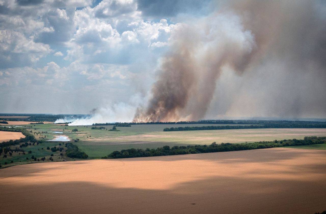
<instances>
[{"instance_id":1,"label":"billowing brown smoke column arching right, without the pale haze beneath","mask_svg":"<svg viewBox=\"0 0 326 214\"><path fill-rule=\"evenodd\" d=\"M282 72L289 78L311 72L325 80L325 3L248 0L221 8L174 32L152 97L134 121L202 119L226 68L238 75L255 73L273 59L286 65ZM264 68L266 72L273 70L270 67ZM326 93L325 86L321 91ZM287 109L298 111L298 106ZM321 111L326 112L325 107Z\"/></svg>"}]
</instances>

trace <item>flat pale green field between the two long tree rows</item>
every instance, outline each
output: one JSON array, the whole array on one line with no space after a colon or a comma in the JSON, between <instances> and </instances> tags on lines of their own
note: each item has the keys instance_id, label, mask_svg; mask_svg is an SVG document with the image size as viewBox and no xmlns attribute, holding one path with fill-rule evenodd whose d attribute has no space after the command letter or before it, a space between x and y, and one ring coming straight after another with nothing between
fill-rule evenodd
<instances>
[{"instance_id":1,"label":"flat pale green field between the two long tree rows","mask_svg":"<svg viewBox=\"0 0 326 214\"><path fill-rule=\"evenodd\" d=\"M207 126L211 124L187 124L187 126ZM227 125L227 124L224 124ZM117 127L120 132L108 131L113 126L104 126L104 130L91 129L92 126L64 126L54 124L23 125L33 134L44 140L53 139L54 136L65 135L70 139L79 138L74 142L91 158L106 156L114 150L130 148L157 148L165 145L190 145L216 143L243 143L270 141L282 139L303 139L304 136L326 136L326 129L230 129L230 130L202 130L163 132L166 127L179 127L180 124L151 124L131 125L131 127ZM32 127L30 127L32 126ZM78 132L72 132L72 129ZM54 131L63 134L52 134ZM42 132L44 132L42 134ZM41 138L40 138L41 137ZM58 142L46 142L54 146ZM42 145L44 146L44 145ZM35 152L38 152L35 151Z\"/></svg>"}]
</instances>

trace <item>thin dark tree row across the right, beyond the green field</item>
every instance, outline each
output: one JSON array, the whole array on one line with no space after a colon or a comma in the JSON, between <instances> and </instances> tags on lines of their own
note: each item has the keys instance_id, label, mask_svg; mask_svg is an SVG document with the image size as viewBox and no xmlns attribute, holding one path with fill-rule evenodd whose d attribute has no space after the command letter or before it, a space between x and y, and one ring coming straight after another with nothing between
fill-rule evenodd
<instances>
[{"instance_id":1,"label":"thin dark tree row across the right, beyond the green field","mask_svg":"<svg viewBox=\"0 0 326 214\"><path fill-rule=\"evenodd\" d=\"M186 126L164 128L164 132L171 131L197 131L197 130L221 130L221 129L266 129L266 128L326 128L326 124L307 124L307 123L289 123L289 124L270 124L270 125L236 125L236 126Z\"/></svg>"}]
</instances>

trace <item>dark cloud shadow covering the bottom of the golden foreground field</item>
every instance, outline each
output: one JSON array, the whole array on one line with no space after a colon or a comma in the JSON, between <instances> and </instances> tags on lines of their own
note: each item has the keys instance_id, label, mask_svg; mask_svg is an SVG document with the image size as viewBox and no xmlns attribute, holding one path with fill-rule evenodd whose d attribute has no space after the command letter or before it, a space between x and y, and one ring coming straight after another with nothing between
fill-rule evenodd
<instances>
[{"instance_id":1,"label":"dark cloud shadow covering the bottom of the golden foreground field","mask_svg":"<svg viewBox=\"0 0 326 214\"><path fill-rule=\"evenodd\" d=\"M33 185L0 184L0 199L8 207L1 213L313 214L326 208L324 181L215 176L162 190L156 189L159 182L140 189L64 180L45 184L36 180Z\"/></svg>"}]
</instances>

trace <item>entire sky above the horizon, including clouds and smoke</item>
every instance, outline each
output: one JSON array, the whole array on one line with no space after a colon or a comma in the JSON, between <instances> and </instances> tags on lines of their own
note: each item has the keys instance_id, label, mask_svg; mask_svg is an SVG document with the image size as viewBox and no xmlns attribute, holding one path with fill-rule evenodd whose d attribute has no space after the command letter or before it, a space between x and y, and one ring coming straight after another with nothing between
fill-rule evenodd
<instances>
[{"instance_id":1,"label":"entire sky above the horizon, including clouds and smoke","mask_svg":"<svg viewBox=\"0 0 326 214\"><path fill-rule=\"evenodd\" d=\"M325 118L325 4L271 2L0 0L0 112L96 113L105 122L135 113L145 121ZM170 110L157 101L170 93L159 86L176 79L169 90L180 92L180 65L167 62L186 59L184 50L192 85Z\"/></svg>"}]
</instances>

